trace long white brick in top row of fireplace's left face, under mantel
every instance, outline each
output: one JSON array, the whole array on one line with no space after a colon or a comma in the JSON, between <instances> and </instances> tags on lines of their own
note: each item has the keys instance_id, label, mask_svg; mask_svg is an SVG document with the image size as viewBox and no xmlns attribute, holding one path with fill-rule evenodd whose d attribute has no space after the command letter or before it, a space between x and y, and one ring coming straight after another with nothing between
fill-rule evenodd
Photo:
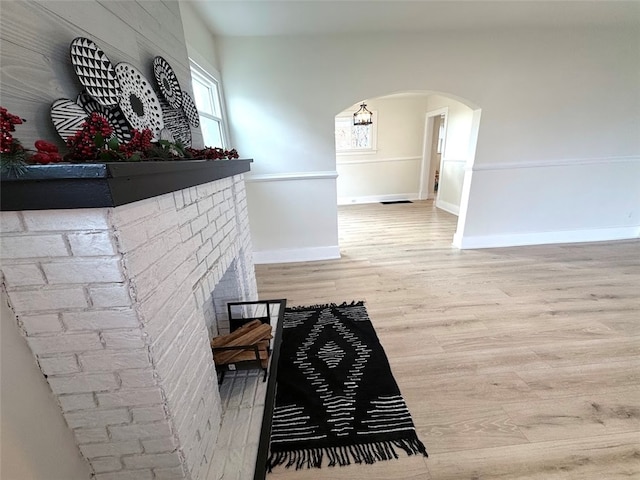
<instances>
[{"instance_id":1,"label":"long white brick in top row of fireplace's left face, under mantel","mask_svg":"<svg viewBox=\"0 0 640 480\"><path fill-rule=\"evenodd\" d=\"M22 212L31 232L59 230L106 230L106 208L78 208L71 210L29 210Z\"/></svg>"}]
</instances>

